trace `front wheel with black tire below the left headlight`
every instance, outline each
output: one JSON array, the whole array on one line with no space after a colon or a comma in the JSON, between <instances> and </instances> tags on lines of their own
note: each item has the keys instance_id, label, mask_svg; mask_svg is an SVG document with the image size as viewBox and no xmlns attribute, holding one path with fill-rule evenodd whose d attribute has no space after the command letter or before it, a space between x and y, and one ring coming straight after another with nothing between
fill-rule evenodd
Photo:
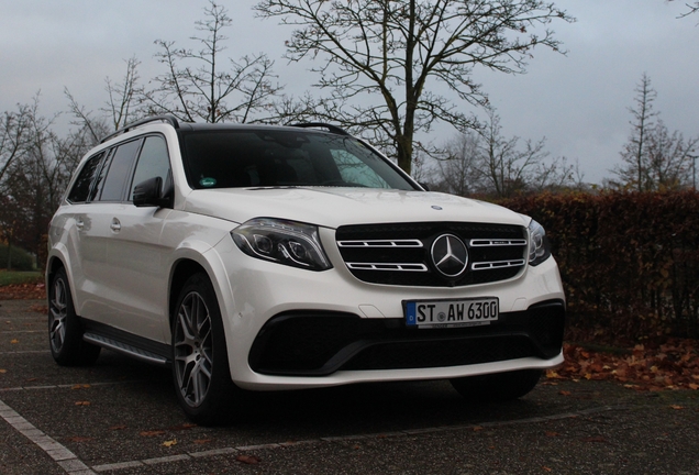
<instances>
[{"instance_id":1,"label":"front wheel with black tire below the left headlight","mask_svg":"<svg viewBox=\"0 0 699 475\"><path fill-rule=\"evenodd\" d=\"M234 393L221 311L206 274L182 287L173 321L173 380L187 417L200 426L228 423Z\"/></svg>"}]
</instances>

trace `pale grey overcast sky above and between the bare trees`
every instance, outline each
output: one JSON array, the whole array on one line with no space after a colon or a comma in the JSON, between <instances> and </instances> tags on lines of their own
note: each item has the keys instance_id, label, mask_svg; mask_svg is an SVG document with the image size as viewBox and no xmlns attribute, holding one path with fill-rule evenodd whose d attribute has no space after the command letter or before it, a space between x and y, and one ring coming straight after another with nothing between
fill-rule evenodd
<instances>
[{"instance_id":1,"label":"pale grey overcast sky above and between the bare trees","mask_svg":"<svg viewBox=\"0 0 699 475\"><path fill-rule=\"evenodd\" d=\"M266 53L289 93L314 80L310 63L281 58L289 30L256 19L254 0L221 0L234 24L228 56ZM577 159L585 180L600 183L619 163L631 125L634 88L646 73L657 91L655 110L670 131L699 135L699 14L677 19L684 1L556 0L577 19L553 24L566 56L540 48L529 73L477 71L507 136L547 140L553 156ZM155 40L191 45L206 0L0 0L0 111L27 103L41 90L41 112L67 109L64 87L97 110L104 78L120 81L136 56L142 79L160 74ZM437 142L451 139L433 136Z\"/></svg>"}]
</instances>

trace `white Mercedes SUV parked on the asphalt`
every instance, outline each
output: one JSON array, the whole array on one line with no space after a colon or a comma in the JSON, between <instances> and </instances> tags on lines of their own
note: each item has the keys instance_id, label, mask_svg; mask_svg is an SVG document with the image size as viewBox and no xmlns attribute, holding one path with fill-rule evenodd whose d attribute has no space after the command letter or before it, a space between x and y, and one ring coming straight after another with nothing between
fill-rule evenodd
<instances>
[{"instance_id":1,"label":"white Mercedes SUV parked on the asphalt","mask_svg":"<svg viewBox=\"0 0 699 475\"><path fill-rule=\"evenodd\" d=\"M542 227L328 124L129 125L82 158L48 247L55 361L170 365L199 423L241 389L448 378L512 399L563 363Z\"/></svg>"}]
</instances>

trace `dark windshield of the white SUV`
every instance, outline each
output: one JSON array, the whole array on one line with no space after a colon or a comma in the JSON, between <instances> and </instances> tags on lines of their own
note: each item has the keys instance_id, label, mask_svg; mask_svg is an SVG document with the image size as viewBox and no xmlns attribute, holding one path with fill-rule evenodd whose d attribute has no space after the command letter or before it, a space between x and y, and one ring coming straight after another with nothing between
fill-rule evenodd
<instances>
[{"instance_id":1,"label":"dark windshield of the white SUV","mask_svg":"<svg viewBox=\"0 0 699 475\"><path fill-rule=\"evenodd\" d=\"M308 131L212 130L181 134L190 187L340 186L414 190L356 139Z\"/></svg>"}]
</instances>

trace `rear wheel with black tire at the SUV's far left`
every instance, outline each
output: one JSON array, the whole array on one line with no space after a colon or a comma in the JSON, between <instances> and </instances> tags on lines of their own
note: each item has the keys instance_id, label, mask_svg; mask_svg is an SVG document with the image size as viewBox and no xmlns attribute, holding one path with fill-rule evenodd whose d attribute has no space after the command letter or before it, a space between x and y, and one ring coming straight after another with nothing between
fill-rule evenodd
<instances>
[{"instance_id":1,"label":"rear wheel with black tire at the SUV's far left","mask_svg":"<svg viewBox=\"0 0 699 475\"><path fill-rule=\"evenodd\" d=\"M100 355L100 347L82 340L82 324L75 312L70 284L62 267L48 286L48 346L62 366L87 366Z\"/></svg>"}]
</instances>

